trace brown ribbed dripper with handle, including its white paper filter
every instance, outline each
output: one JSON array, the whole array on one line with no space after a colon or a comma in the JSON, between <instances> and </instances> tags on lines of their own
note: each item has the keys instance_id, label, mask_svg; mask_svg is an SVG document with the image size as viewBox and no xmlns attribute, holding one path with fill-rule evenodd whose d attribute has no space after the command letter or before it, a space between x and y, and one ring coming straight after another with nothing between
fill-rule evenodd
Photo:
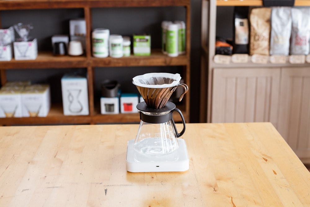
<instances>
[{"instance_id":1,"label":"brown ribbed dripper with handle, including its white paper filter","mask_svg":"<svg viewBox=\"0 0 310 207\"><path fill-rule=\"evenodd\" d=\"M152 76L152 78L150 78L150 76ZM184 88L184 92L179 97L179 101L182 100L184 94L188 91L188 86L186 84L179 83L179 79L181 78L179 74L152 73L152 74L144 74L143 77L148 77L148 79L146 80L139 79L139 82L138 81L135 82L135 80L137 80L135 79L136 78L135 77L133 83L136 85L139 93L141 94L146 105L149 108L153 109L163 108L166 105L172 93L178 87Z\"/></svg>"}]
</instances>

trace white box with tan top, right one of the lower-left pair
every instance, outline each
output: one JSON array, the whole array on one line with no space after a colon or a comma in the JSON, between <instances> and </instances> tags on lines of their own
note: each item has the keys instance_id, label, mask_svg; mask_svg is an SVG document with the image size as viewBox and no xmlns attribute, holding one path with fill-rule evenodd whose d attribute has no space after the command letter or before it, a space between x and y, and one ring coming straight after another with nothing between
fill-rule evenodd
<instances>
[{"instance_id":1,"label":"white box with tan top, right one of the lower-left pair","mask_svg":"<svg viewBox=\"0 0 310 207\"><path fill-rule=\"evenodd\" d=\"M51 108L49 85L26 86L21 93L23 117L46 117Z\"/></svg>"}]
</instances>

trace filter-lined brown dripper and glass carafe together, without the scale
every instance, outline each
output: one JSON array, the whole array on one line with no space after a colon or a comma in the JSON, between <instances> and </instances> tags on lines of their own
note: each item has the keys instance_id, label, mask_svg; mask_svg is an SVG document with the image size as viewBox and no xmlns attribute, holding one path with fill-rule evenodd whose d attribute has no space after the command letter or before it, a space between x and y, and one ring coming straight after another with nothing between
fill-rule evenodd
<instances>
[{"instance_id":1,"label":"filter-lined brown dripper and glass carafe together, without the scale","mask_svg":"<svg viewBox=\"0 0 310 207\"><path fill-rule=\"evenodd\" d=\"M151 73L136 76L133 83L138 88L145 102L137 105L140 111L140 127L135 139L134 149L144 155L166 155L178 149L177 138L185 131L182 112L169 102L177 87L183 87L179 101L188 91L186 84L179 84L179 74ZM173 112L178 112L183 122L183 129L178 133L173 120Z\"/></svg>"}]
</instances>

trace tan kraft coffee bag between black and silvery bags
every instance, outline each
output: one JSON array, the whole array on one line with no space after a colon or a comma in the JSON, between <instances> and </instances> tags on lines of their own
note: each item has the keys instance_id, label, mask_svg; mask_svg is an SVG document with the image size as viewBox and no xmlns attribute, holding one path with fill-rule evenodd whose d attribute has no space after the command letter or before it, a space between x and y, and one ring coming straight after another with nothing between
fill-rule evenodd
<instances>
[{"instance_id":1,"label":"tan kraft coffee bag between black and silvery bags","mask_svg":"<svg viewBox=\"0 0 310 207\"><path fill-rule=\"evenodd\" d=\"M250 55L269 55L271 8L254 8L250 14Z\"/></svg>"}]
</instances>

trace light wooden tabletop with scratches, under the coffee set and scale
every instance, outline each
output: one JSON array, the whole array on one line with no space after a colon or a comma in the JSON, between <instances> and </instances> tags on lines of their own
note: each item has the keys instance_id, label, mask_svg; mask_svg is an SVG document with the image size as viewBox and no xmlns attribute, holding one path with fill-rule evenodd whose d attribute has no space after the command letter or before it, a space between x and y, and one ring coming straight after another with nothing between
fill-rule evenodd
<instances>
[{"instance_id":1,"label":"light wooden tabletop with scratches, under the coffee set and scale","mask_svg":"<svg viewBox=\"0 0 310 207\"><path fill-rule=\"evenodd\" d=\"M270 123L187 124L174 173L126 171L138 127L0 127L0 206L310 206L310 173Z\"/></svg>"}]
</instances>

